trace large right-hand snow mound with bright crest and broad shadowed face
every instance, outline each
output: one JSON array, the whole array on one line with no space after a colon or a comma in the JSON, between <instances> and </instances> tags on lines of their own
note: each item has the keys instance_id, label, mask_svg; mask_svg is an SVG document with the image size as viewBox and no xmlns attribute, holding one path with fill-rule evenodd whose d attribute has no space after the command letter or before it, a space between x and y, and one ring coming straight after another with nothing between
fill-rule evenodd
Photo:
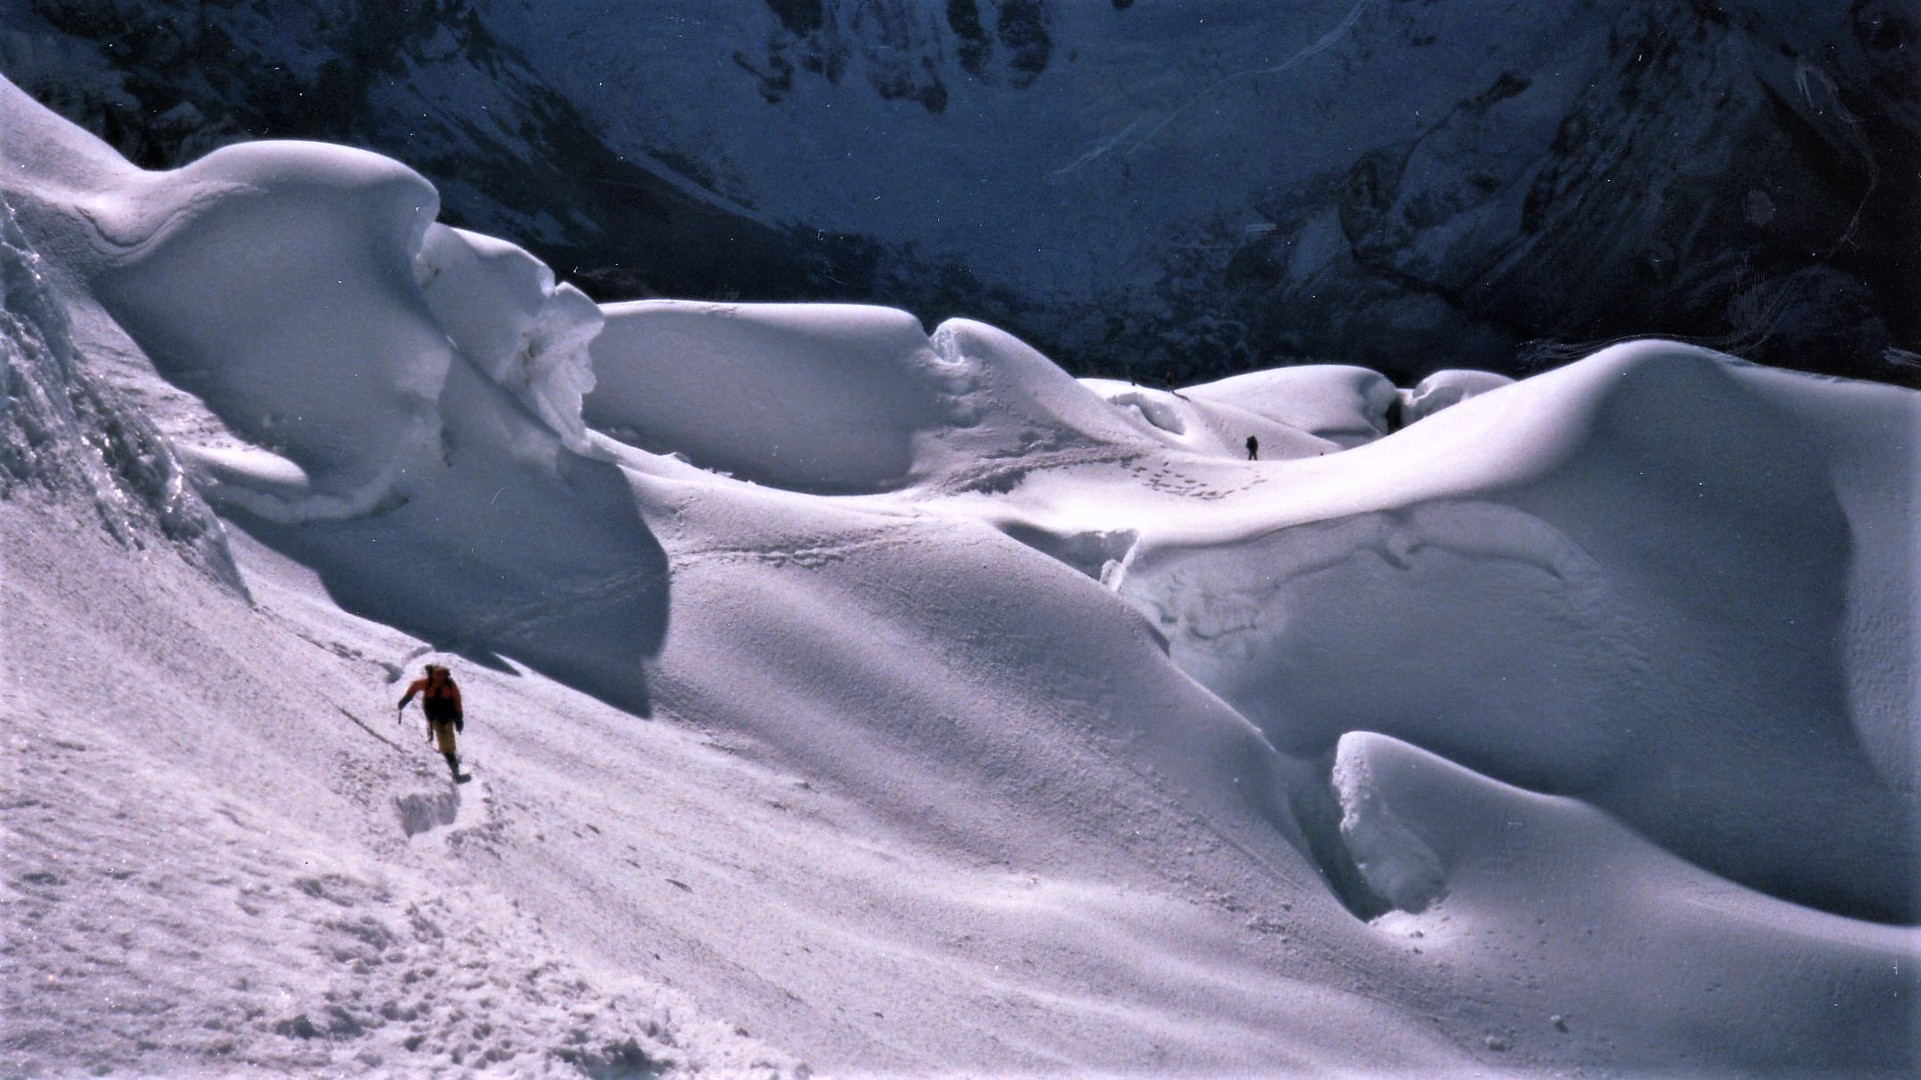
<instances>
[{"instance_id":1,"label":"large right-hand snow mound with bright crest and broad shadowed face","mask_svg":"<svg viewBox=\"0 0 1921 1080\"><path fill-rule=\"evenodd\" d=\"M1771 379L1617 346L1329 459L1266 525L1145 534L1120 588L1283 749L1379 730L1773 896L1908 920L1911 763L1858 701L1913 655L1861 632L1894 613L1854 567L1911 567L1911 530L1850 525L1848 384Z\"/></svg>"}]
</instances>

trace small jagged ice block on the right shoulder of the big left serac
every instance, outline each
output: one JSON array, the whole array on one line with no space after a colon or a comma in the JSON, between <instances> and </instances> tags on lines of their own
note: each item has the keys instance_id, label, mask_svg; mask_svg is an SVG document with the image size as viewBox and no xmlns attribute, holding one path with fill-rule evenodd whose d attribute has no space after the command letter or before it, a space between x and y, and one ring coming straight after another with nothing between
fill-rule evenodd
<instances>
[{"instance_id":1,"label":"small jagged ice block on the right shoulder of the big left serac","mask_svg":"<svg viewBox=\"0 0 1921 1080\"><path fill-rule=\"evenodd\" d=\"M569 450L586 450L580 402L594 390L588 344L605 317L584 292L492 236L432 225L415 259L426 306L461 354Z\"/></svg>"}]
</instances>

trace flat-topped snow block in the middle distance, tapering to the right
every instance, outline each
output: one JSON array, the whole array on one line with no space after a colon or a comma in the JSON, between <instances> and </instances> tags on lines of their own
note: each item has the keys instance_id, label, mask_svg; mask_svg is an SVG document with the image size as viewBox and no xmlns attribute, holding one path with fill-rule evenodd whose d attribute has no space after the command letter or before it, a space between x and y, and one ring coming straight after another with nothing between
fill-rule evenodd
<instances>
[{"instance_id":1,"label":"flat-topped snow block in the middle distance, tapering to the right","mask_svg":"<svg viewBox=\"0 0 1921 1080\"><path fill-rule=\"evenodd\" d=\"M605 311L588 423L761 484L857 494L991 482L1041 455L1149 444L1051 359L972 319L928 334L907 311L855 304L640 300Z\"/></svg>"}]
</instances>

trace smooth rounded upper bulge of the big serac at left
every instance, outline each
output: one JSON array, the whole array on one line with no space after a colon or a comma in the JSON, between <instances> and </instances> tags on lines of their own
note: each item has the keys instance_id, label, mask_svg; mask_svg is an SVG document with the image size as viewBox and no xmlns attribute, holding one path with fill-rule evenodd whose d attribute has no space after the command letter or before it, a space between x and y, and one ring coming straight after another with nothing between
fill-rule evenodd
<instances>
[{"instance_id":1,"label":"smooth rounded upper bulge of the big serac at left","mask_svg":"<svg viewBox=\"0 0 1921 1080\"><path fill-rule=\"evenodd\" d=\"M417 173L342 146L250 142L123 177L79 209L108 311L161 375L300 471L298 494L275 482L244 498L244 461L225 461L250 509L367 513L436 454L455 352L413 284L438 209Z\"/></svg>"}]
</instances>

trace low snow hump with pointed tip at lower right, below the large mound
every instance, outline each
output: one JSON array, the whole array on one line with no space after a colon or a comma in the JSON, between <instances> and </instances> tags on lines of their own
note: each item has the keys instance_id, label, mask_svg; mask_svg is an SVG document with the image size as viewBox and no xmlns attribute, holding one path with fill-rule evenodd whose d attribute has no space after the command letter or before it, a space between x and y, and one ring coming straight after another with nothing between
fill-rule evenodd
<instances>
[{"instance_id":1,"label":"low snow hump with pointed tip at lower right, below the large mound","mask_svg":"<svg viewBox=\"0 0 1921 1080\"><path fill-rule=\"evenodd\" d=\"M1368 886L1398 909L1375 920L1379 934L1445 965L1464 995L1498 978L1546 988L1550 1015L1491 1032L1510 1049L1596 1040L1591 1019L1606 1011L1637 1032L1606 1051L1610 1065L1662 1072L1648 1045L1714 1028L1717 997L1769 986L1819 1005L1775 1013L1725 1045L1731 1068L1773 1072L1794 1059L1823 1038L1821 1011L1854 1017L1858 1032L1827 1065L1836 1074L1871 1074L1911 1053L1902 970L1911 930L1733 886L1583 801L1523 792L1387 736L1343 736L1333 780ZM1639 992L1621 999L1623 986Z\"/></svg>"}]
</instances>

